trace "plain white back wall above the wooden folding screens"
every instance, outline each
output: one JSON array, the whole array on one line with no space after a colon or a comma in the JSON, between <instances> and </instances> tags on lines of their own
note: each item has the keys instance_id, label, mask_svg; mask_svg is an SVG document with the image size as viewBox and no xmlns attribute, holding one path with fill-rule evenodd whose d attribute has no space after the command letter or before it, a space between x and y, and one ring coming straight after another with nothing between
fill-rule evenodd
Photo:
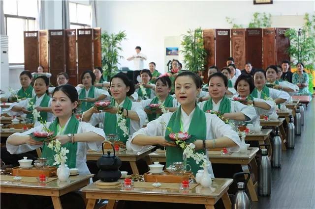
<instances>
[{"instance_id":1,"label":"plain white back wall above the wooden folding screens","mask_svg":"<svg viewBox=\"0 0 315 209\"><path fill-rule=\"evenodd\" d=\"M156 62L164 71L167 36L180 36L189 28L230 28L225 17L235 19L236 24L248 26L254 12L271 13L275 25L299 27L304 13L314 14L315 1L274 0L273 4L254 5L247 1L99 1L98 23L102 31L110 33L126 30L127 39L122 43L125 59L121 66L132 68L126 57L141 46L148 56L145 66ZM295 21L292 21L295 20ZM176 46L173 46L176 47ZM180 60L182 61L182 60ZM165 66L166 68L166 66Z\"/></svg>"}]
</instances>

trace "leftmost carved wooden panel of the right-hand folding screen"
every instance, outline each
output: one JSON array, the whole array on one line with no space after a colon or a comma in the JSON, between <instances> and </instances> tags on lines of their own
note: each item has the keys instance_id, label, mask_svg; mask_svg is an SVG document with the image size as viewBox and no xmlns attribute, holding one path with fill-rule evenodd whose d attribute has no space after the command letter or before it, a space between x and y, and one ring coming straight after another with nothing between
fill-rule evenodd
<instances>
[{"instance_id":1,"label":"leftmost carved wooden panel of the right-hand folding screen","mask_svg":"<svg viewBox=\"0 0 315 209\"><path fill-rule=\"evenodd\" d=\"M215 65L215 31L214 29L203 30L203 46L207 51L206 66L203 73L204 82L208 80L208 68Z\"/></svg>"}]
</instances>

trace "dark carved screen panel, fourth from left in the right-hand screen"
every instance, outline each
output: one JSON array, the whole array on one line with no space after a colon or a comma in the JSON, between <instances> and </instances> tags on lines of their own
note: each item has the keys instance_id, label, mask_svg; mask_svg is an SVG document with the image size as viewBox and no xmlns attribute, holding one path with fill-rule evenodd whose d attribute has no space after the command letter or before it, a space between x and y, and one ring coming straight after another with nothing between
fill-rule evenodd
<instances>
[{"instance_id":1,"label":"dark carved screen panel, fourth from left in the right-hand screen","mask_svg":"<svg viewBox=\"0 0 315 209\"><path fill-rule=\"evenodd\" d=\"M262 68L262 34L261 28L246 29L246 61L253 68Z\"/></svg>"}]
</instances>

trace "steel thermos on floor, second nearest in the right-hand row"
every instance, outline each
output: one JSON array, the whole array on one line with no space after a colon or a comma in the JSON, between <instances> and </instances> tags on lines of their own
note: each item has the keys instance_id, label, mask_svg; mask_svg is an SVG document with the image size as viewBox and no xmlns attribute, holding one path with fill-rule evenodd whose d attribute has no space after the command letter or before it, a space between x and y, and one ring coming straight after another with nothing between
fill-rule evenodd
<instances>
[{"instance_id":1,"label":"steel thermos on floor, second nearest in the right-hand row","mask_svg":"<svg viewBox=\"0 0 315 209\"><path fill-rule=\"evenodd\" d=\"M261 149L261 160L258 166L258 195L268 196L271 194L271 163L267 149Z\"/></svg>"}]
</instances>

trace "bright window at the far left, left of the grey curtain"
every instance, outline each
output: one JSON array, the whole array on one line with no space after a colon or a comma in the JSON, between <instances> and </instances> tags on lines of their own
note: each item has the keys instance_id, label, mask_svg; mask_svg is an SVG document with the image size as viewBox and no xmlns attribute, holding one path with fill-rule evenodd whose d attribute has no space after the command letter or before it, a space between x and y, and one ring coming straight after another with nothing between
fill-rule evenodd
<instances>
[{"instance_id":1,"label":"bright window at the far left, left of the grey curtain","mask_svg":"<svg viewBox=\"0 0 315 209\"><path fill-rule=\"evenodd\" d=\"M37 0L4 0L4 22L9 37L9 63L24 63L23 31L35 30Z\"/></svg>"}]
</instances>

